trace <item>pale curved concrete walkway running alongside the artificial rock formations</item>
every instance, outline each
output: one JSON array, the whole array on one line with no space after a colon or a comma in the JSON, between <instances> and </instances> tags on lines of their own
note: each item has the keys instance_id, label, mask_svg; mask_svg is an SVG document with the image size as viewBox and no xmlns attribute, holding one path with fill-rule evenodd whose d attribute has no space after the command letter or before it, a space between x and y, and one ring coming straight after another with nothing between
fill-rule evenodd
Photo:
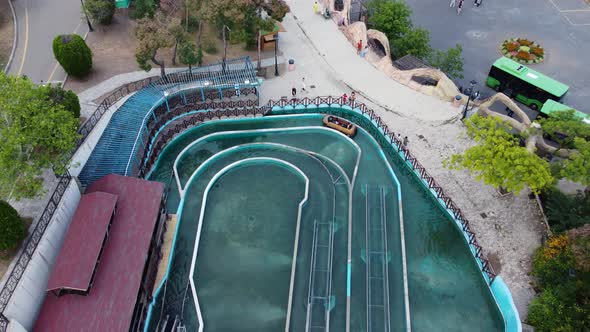
<instances>
[{"instance_id":1,"label":"pale curved concrete walkway running alongside the artificial rock formations","mask_svg":"<svg viewBox=\"0 0 590 332\"><path fill-rule=\"evenodd\" d=\"M435 97L425 96L402 85L378 71L340 32L332 20L312 11L312 1L287 1L296 25L303 30L312 47L330 66L336 77L351 89L380 106L403 116L442 122L455 118L460 110ZM288 31L293 27L286 22ZM301 45L303 46L303 45ZM308 46L305 46L308 47Z\"/></svg>"}]
</instances>

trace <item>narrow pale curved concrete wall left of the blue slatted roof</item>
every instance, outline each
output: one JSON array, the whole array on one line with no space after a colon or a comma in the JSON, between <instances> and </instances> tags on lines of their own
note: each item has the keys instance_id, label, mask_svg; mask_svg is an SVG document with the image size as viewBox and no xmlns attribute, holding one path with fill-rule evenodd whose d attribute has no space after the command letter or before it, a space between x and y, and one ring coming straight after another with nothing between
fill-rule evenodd
<instances>
[{"instance_id":1,"label":"narrow pale curved concrete wall left of the blue slatted roof","mask_svg":"<svg viewBox=\"0 0 590 332\"><path fill-rule=\"evenodd\" d=\"M74 155L72 156L72 163L69 168L70 174L72 176L80 175L80 172L82 172L84 165L86 165L88 158L90 158L92 151L94 150L94 148L96 147L96 144L100 140L102 133L104 132L104 130L107 128L109 122L111 121L111 117L113 116L115 111L117 109L119 109L119 107L121 107L121 105L123 105L127 101L127 99L129 99L129 97L131 97L132 95L133 94L129 94L129 95L123 97L118 102L116 102L114 105L112 105L102 115L102 117L100 118L100 120L98 121L96 126L94 126L94 129L92 129L92 131L90 132L90 134L88 135L88 137L84 141L84 143L82 143L82 145L80 145L78 150L76 150L76 153L74 153Z\"/></svg>"}]
</instances>

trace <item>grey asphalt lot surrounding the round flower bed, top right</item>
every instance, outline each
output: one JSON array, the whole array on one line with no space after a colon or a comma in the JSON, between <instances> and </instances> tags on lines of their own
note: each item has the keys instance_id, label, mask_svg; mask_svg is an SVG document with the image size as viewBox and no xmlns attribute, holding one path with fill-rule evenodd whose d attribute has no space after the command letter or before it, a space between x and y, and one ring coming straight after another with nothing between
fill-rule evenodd
<instances>
[{"instance_id":1,"label":"grey asphalt lot surrounding the round flower bed, top right","mask_svg":"<svg viewBox=\"0 0 590 332\"><path fill-rule=\"evenodd\" d=\"M461 16L449 2L407 0L414 24L430 31L433 47L463 45L465 79L460 84L484 82L500 57L502 41L523 36L548 53L543 63L531 67L569 85L564 103L590 113L590 5L584 0L483 0L479 8L466 0Z\"/></svg>"}]
</instances>

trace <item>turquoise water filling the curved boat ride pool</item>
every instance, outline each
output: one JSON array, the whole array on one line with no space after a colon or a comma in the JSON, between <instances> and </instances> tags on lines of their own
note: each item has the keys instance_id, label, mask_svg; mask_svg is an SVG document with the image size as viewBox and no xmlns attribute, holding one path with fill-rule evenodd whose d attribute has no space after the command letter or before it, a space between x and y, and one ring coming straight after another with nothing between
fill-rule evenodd
<instances>
[{"instance_id":1,"label":"turquoise water filling the curved boat ride pool","mask_svg":"<svg viewBox=\"0 0 590 332\"><path fill-rule=\"evenodd\" d=\"M341 111L334 113L347 115ZM160 294L156 300L153 312L157 314L152 315L150 326L155 327L161 317L166 315L179 315L189 328L198 326L194 299L191 292L186 290L204 189L214 174L232 162L252 157L272 157L293 163L310 179L309 201L303 207L298 241L290 312L292 331L305 330L307 320L313 322L310 324L312 326L325 328L326 313L329 314L330 330L344 330L349 249L352 266L350 330L383 331L386 326L395 331L405 329L398 192L392 172L401 182L403 197L412 329L503 330L503 321L491 293L453 222L435 205L397 157L384 154L367 132L360 130L354 137L354 143L351 143L342 135L322 130L321 118L321 115L301 115L212 121L187 131L163 151L151 179L168 182L179 153L199 139L179 158L181 185L186 186L197 168L203 167L185 188L184 205L178 211L182 215L171 275L166 284L166 294ZM350 118L364 124L362 119L354 116ZM278 130L243 132L255 129ZM210 136L205 137L207 135ZM201 238L210 237L211 240L206 242L209 249L199 251L194 279L205 330L209 327L212 327L211 330L236 330L235 326L239 325L232 324L244 319L233 312L240 311L247 298L258 302L252 302L249 308L249 320L244 320L248 322L243 326L245 330L276 331L284 328L288 296L273 290L284 290L281 273L277 273L276 279L264 282L281 285L277 288L252 286L251 289L242 290L228 286L235 299L231 295L220 295L227 294L223 293L225 290L222 285L233 285L232 282L212 281L224 280L224 274L235 280L236 274L248 276L259 269L286 271L285 266L288 264L285 252L294 246L291 233L293 227L290 226L296 222L296 215L288 206L292 207L293 201L297 201L294 198L295 191L291 190L292 185L284 185L286 182L283 182L283 178L287 181L287 177L270 176L270 173L269 176L258 173L255 176L254 172L250 173L236 173L241 175L228 177L227 181L222 176L220 181L224 181L225 189L215 188L212 193L216 194L207 203L215 206L217 212L215 218L207 218L206 213L203 220ZM346 179L352 182L351 185L346 183ZM257 189L253 190L248 183L257 184ZM171 185L174 187L168 204L175 211L180 195L175 183ZM244 202L248 201L247 196L268 198L253 200L248 207L228 204L228 201L241 202L234 197L234 191ZM284 199L281 200L281 197ZM267 204L267 200L270 203L274 199L289 201L284 203L291 205ZM245 209L252 209L252 212L243 213ZM280 227L256 228L269 223L265 216L283 210L285 219L279 218ZM246 215L255 216L254 221L249 221ZM349 219L352 228L350 248ZM224 226L232 223L241 225L242 222L242 227L254 223L257 234ZM216 224L219 225L214 226ZM284 233L277 235L277 232ZM228 240L236 236L242 244L236 245L235 241ZM271 245L277 238L281 239L279 242L284 246L283 249ZM261 250L266 251L260 252L261 257L254 254L258 251L250 250L251 241L258 241L256 243L259 243L260 248L264 248ZM204 243L201 242L200 247ZM242 250L244 246L248 249ZM225 264L226 259L219 259L216 252L242 262L240 272L232 270L234 266ZM312 270L314 264L316 269ZM329 267L330 273L321 271L324 269L317 266L324 266L326 270ZM205 292L203 299L199 290ZM308 300L311 293L320 299L312 301L310 305ZM327 297L322 299L322 296ZM220 314L223 310L220 308L226 308L228 313L223 319Z\"/></svg>"}]
</instances>

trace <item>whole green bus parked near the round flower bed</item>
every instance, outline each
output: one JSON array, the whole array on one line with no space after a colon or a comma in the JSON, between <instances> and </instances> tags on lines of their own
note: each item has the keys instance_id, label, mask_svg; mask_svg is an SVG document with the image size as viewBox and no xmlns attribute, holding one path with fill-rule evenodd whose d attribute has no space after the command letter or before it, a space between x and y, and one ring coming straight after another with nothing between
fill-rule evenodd
<instances>
[{"instance_id":1,"label":"whole green bus parked near the round flower bed","mask_svg":"<svg viewBox=\"0 0 590 332\"><path fill-rule=\"evenodd\" d=\"M516 61L501 57L490 69L486 84L538 110L547 100L560 101L569 87Z\"/></svg>"}]
</instances>

